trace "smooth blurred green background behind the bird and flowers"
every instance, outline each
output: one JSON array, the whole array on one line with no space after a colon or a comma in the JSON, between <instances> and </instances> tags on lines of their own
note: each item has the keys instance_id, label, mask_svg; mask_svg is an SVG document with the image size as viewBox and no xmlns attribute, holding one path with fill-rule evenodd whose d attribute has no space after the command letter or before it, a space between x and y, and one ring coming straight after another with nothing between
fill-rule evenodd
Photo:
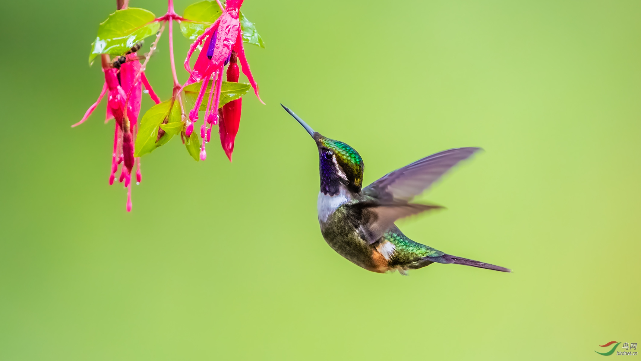
<instances>
[{"instance_id":1,"label":"smooth blurred green background behind the bird and flowers","mask_svg":"<svg viewBox=\"0 0 641 361\"><path fill-rule=\"evenodd\" d=\"M217 139L206 162L178 139L144 156L130 214L104 102L70 128L101 90L87 56L113 10L3 3L1 360L585 360L641 342L638 1L247 0L267 105L245 97L232 164ZM147 75L167 99L166 35ZM339 256L316 148L278 103L356 148L366 184L484 147L421 198L447 211L399 226L513 273Z\"/></svg>"}]
</instances>

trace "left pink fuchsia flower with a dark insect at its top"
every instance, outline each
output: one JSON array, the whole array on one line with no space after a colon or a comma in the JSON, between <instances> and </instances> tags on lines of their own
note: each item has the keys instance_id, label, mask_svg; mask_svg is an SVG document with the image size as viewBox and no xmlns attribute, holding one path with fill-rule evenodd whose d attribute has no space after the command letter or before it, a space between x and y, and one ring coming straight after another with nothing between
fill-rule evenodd
<instances>
[{"instance_id":1,"label":"left pink fuchsia flower with a dark insect at its top","mask_svg":"<svg viewBox=\"0 0 641 361\"><path fill-rule=\"evenodd\" d=\"M140 113L140 102L142 100L142 86L147 89L151 99L158 104L160 99L149 85L144 72L140 71L140 62L135 52L140 46L131 48L128 54L121 56L110 63L109 56L102 56L104 72L104 85L96 103L89 107L83 118L72 125L78 126L85 122L89 115L96 109L103 96L107 94L107 110L105 122L115 119L113 134L112 169L109 176L109 184L113 184L118 165L122 163L119 181L124 181L127 192L127 211L131 211L131 172L137 164L136 180L142 180L140 173L140 158L133 156L133 144L138 130L138 115ZM127 111L125 112L125 109Z\"/></svg>"}]
</instances>

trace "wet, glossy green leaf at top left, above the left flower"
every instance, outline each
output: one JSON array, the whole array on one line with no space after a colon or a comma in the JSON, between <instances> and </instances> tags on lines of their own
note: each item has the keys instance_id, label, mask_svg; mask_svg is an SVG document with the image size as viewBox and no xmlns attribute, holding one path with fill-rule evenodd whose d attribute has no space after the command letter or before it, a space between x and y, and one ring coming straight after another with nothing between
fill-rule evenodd
<instances>
[{"instance_id":1,"label":"wet, glossy green leaf at top left, above the left flower","mask_svg":"<svg viewBox=\"0 0 641 361\"><path fill-rule=\"evenodd\" d=\"M91 44L89 64L99 54L123 55L140 40L154 35L160 28L156 15L141 8L116 10L100 23L98 36Z\"/></svg>"}]
</instances>

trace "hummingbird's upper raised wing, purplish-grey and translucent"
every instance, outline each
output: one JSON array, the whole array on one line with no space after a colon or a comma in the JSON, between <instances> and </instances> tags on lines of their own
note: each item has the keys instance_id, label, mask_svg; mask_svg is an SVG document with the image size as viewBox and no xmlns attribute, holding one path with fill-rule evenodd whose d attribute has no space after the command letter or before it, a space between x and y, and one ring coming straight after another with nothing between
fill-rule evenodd
<instances>
[{"instance_id":1,"label":"hummingbird's upper raised wing, purplish-grey and translucent","mask_svg":"<svg viewBox=\"0 0 641 361\"><path fill-rule=\"evenodd\" d=\"M425 158L394 172L385 174L382 178L363 189L363 194L374 197L382 202L409 202L445 174L451 167L481 148L466 147L447 149Z\"/></svg>"}]
</instances>

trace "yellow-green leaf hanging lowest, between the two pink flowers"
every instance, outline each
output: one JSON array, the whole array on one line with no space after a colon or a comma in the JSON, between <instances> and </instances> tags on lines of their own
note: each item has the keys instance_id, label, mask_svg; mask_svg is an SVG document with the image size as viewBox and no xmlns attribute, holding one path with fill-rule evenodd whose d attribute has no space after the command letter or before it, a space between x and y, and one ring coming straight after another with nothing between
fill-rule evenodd
<instances>
[{"instance_id":1,"label":"yellow-green leaf hanging lowest, between the two pink flowers","mask_svg":"<svg viewBox=\"0 0 641 361\"><path fill-rule=\"evenodd\" d=\"M158 139L158 127L160 127L160 124L162 124L165 119L167 119L168 127L177 127L178 125L171 125L176 123L180 124L181 127L183 126L178 102L174 102L172 106L171 99L163 101L160 104L152 106L151 109L147 110L145 115L142 116L136 137L134 156L151 153L151 151L166 144L174 135L178 134L165 130L166 133ZM158 141L156 141L156 139L158 139Z\"/></svg>"}]
</instances>

